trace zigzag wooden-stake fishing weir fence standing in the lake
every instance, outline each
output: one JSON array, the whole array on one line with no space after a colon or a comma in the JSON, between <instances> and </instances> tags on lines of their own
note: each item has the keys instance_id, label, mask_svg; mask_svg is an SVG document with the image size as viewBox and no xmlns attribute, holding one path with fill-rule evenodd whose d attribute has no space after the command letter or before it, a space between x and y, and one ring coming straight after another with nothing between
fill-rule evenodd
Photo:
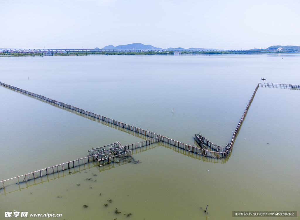
<instances>
[{"instance_id":1,"label":"zigzag wooden-stake fishing weir fence standing in the lake","mask_svg":"<svg viewBox=\"0 0 300 220\"><path fill-rule=\"evenodd\" d=\"M171 145L173 147L176 148L180 148L183 149L184 151L189 151L191 153L194 154L198 154L199 156L202 155L204 157L208 157L208 158L216 158L216 159L223 159L226 158L229 153L232 150L232 146L234 144L234 140L238 134L238 131L244 121L244 118L246 117L247 111L250 107L251 102L253 101L253 98L255 96L255 93L257 91L257 89L259 87L271 87L271 88L284 88L284 89L291 89L291 90L300 90L300 85L291 85L291 84L266 84L266 83L259 83L257 84L248 104L247 107L244 111L244 114L241 117L241 120L238 123L238 126L236 127L233 135L232 135L232 139L231 142L229 142L225 147L220 147L218 145L213 144L212 142L208 141L205 137L203 137L200 134L195 134L194 139L196 141L196 143L199 145L198 146L192 146L192 145L188 145L173 139L170 139L168 137L159 135L157 133L153 133L147 130L143 130L140 129L138 127L134 127L132 125L128 125L125 123L122 123L120 121L116 121L92 112L88 112L86 110L83 110L81 108L77 108L75 106L72 105L68 105L65 104L63 102L58 102L54 99L50 99L41 95L38 95L36 93L32 93L26 90L22 90L18 87L14 87L11 85L7 85L5 83L0 82L0 84L6 88L9 88L11 90L14 90L18 93L22 93L25 94L27 96L33 97L35 99L38 99L40 101L55 105L55 106L60 106L63 108L67 108L72 112L78 113L80 115L85 115L87 117L90 118L94 118L95 120L100 120L103 121L105 123L108 124L112 124L113 126L117 126L122 128L122 130L127 130L129 132L133 132L133 133L138 133L141 134L143 136L147 136L150 137L150 139L148 140L144 140L141 142L137 142L131 145L126 145L123 146L120 144L120 142L116 142L110 145L106 145L103 147L99 147L99 148L95 148L95 149L91 149L88 151L88 156L87 157L82 157L82 158L78 158L76 160L72 160L72 161L68 161L67 163L61 163L61 164L57 164L55 166L52 167L47 167L45 169L41 169L41 170L37 170L34 171L32 173L27 173L21 176L17 176L11 179L7 179L7 180L2 180L0 182L2 182L2 188L4 189L5 185L9 186L12 185L14 183L19 184L20 182L27 182L31 179L37 179L37 178L42 178L43 176L47 176L49 174L53 174L54 173L58 173L60 171L64 171L70 168L74 168L74 167L78 167L81 165L84 165L86 163L90 163L90 162L95 162L97 164L97 166L103 166L106 164L110 164L112 162L116 162L119 163L120 161L129 158L128 161L131 161L131 154L132 151L134 149L138 149L138 148L142 148L144 146L149 146L158 142L163 142L167 145ZM6 182L6 184L4 185L4 182ZM1 187L1 186L0 186ZM0 188L1 189L1 188Z\"/></svg>"}]
</instances>

